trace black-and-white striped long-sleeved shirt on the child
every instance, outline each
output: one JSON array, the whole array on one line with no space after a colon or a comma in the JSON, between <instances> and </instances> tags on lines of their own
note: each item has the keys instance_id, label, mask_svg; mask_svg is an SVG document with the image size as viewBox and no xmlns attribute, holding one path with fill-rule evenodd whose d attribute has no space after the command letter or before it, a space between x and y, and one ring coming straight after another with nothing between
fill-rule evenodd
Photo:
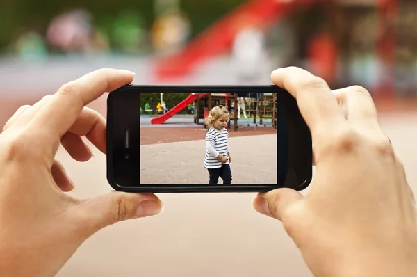
<instances>
[{"instance_id":1,"label":"black-and-white striped long-sleeved shirt on the child","mask_svg":"<svg viewBox=\"0 0 417 277\"><path fill-rule=\"evenodd\" d=\"M206 157L204 158L205 168L221 168L222 161L217 159L219 154L229 159L229 132L226 128L222 130L211 127L206 134ZM224 164L229 164L227 161Z\"/></svg>"}]
</instances>

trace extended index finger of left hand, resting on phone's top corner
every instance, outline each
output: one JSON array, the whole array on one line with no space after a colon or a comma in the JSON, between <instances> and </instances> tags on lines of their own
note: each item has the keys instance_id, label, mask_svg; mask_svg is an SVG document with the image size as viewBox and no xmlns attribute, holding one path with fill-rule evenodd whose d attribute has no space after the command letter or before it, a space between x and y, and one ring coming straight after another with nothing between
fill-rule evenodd
<instances>
[{"instance_id":1,"label":"extended index finger of left hand, resting on phone's top corner","mask_svg":"<svg viewBox=\"0 0 417 277\"><path fill-rule=\"evenodd\" d=\"M52 160L62 136L74 125L83 107L107 91L133 80L133 72L102 69L62 86L28 123L28 132L43 141L42 151Z\"/></svg>"}]
</instances>

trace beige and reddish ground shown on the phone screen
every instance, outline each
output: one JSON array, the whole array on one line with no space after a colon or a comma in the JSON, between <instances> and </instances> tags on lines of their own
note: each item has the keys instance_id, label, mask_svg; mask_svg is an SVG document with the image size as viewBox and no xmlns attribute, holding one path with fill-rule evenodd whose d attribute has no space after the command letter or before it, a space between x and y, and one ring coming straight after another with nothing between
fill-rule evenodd
<instances>
[{"instance_id":1,"label":"beige and reddish ground shown on the phone screen","mask_svg":"<svg viewBox=\"0 0 417 277\"><path fill-rule=\"evenodd\" d=\"M207 184L203 167L207 129L190 116L174 116L161 125L151 125L150 120L140 117L140 182ZM238 131L233 130L233 123L229 129L232 184L275 184L277 130L270 120L265 122L268 127L248 121L243 118Z\"/></svg>"}]
</instances>

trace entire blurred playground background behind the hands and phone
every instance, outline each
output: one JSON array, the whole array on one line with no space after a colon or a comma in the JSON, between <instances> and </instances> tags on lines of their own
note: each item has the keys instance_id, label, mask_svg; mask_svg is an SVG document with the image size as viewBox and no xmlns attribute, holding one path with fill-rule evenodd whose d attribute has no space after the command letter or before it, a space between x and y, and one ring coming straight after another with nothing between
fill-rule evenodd
<instances>
[{"instance_id":1,"label":"entire blurred playground background behind the hands and phone","mask_svg":"<svg viewBox=\"0 0 417 277\"><path fill-rule=\"evenodd\" d=\"M0 123L98 68L134 84L271 84L296 65L332 88L373 94L416 188L415 0L1 0ZM106 95L90 106L106 113ZM105 157L63 160L75 196L110 189ZM169 174L169 173L166 173ZM86 242L58 276L311 276L280 223L252 194L161 196L161 216ZM192 207L192 209L190 209Z\"/></svg>"}]
</instances>

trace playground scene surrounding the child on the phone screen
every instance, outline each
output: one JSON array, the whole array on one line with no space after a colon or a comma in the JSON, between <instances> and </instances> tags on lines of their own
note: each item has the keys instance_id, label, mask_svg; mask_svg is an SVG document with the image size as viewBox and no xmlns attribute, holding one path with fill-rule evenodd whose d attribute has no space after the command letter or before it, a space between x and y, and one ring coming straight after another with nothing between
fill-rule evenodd
<instances>
[{"instance_id":1,"label":"playground scene surrounding the child on the phone screen","mask_svg":"<svg viewBox=\"0 0 417 277\"><path fill-rule=\"evenodd\" d=\"M160 116L158 111L155 114L144 109L145 114L140 116L140 183L207 184L208 172L203 163L208 129L204 118L212 106L223 104L230 107L231 115L227 129L232 184L275 184L277 129L272 104L276 95L270 94L238 97L238 93L192 93ZM239 109L234 109L235 103ZM192 115L178 114L189 106L195 107Z\"/></svg>"}]
</instances>

